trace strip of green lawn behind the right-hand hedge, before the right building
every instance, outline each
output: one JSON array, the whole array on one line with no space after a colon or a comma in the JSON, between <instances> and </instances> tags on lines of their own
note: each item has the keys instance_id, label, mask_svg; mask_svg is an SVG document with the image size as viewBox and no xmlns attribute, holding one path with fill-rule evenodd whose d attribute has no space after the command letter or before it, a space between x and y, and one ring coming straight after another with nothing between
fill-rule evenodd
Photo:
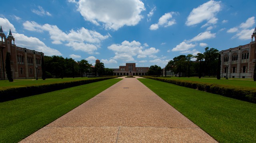
<instances>
[{"instance_id":1,"label":"strip of green lawn behind the right-hand hedge, before the right building","mask_svg":"<svg viewBox=\"0 0 256 143\"><path fill-rule=\"evenodd\" d=\"M228 79L221 78L218 80L217 78L195 78L195 77L160 77L164 79L175 79L175 80L189 80L189 81L195 81L195 82L206 82L211 84L221 84L226 86L238 86L238 87L246 87L246 88L256 88L256 82L253 80L244 80L242 78L240 79Z\"/></svg>"}]
</instances>

